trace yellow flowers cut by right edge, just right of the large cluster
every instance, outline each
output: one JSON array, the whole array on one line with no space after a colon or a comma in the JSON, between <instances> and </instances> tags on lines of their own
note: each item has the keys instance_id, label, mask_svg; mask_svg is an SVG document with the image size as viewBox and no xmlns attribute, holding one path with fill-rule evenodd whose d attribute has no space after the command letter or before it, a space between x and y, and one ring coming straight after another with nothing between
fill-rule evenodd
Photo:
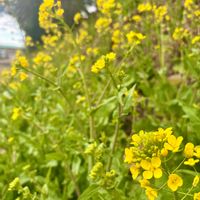
<instances>
[{"instance_id":1,"label":"yellow flowers cut by right edge, just right of the large cluster","mask_svg":"<svg viewBox=\"0 0 200 200\"><path fill-rule=\"evenodd\" d=\"M200 158L200 145L194 146L192 143L187 143L184 148L184 156L188 158L187 161L184 162L185 165L194 166L199 162ZM196 157L196 158L193 158Z\"/></svg>"}]
</instances>

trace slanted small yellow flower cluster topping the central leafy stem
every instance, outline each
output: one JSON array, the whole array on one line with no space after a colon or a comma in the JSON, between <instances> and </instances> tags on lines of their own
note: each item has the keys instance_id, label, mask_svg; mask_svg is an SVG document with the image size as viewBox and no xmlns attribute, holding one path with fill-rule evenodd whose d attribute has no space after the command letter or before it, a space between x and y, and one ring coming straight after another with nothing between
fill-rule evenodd
<instances>
[{"instance_id":1,"label":"slanted small yellow flower cluster topping the central leafy stem","mask_svg":"<svg viewBox=\"0 0 200 200\"><path fill-rule=\"evenodd\" d=\"M95 63L92 65L91 71L94 73L98 73L103 68L106 67L106 63L110 63L116 59L116 54L113 52L110 52L106 55L101 56Z\"/></svg>"}]
</instances>

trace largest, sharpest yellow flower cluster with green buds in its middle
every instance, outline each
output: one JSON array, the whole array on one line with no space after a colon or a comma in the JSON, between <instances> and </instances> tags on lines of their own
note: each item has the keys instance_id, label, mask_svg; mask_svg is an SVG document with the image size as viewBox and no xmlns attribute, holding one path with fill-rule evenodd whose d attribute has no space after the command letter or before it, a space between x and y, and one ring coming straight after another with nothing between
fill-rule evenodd
<instances>
[{"instance_id":1,"label":"largest, sharpest yellow flower cluster with green buds in its middle","mask_svg":"<svg viewBox=\"0 0 200 200\"><path fill-rule=\"evenodd\" d=\"M134 134L131 142L133 146L125 149L125 162L131 164L133 179L139 175L144 179L160 178L162 157L166 157L168 151L177 152L182 139L172 135L172 128Z\"/></svg>"}]
</instances>

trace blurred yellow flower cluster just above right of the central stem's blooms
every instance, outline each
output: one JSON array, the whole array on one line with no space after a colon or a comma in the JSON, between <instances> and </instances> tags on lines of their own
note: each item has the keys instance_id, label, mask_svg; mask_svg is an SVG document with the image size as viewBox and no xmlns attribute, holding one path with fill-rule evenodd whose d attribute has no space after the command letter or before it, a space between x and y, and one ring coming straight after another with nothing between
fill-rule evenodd
<instances>
[{"instance_id":1,"label":"blurred yellow flower cluster just above right of the central stem's blooms","mask_svg":"<svg viewBox=\"0 0 200 200\"><path fill-rule=\"evenodd\" d=\"M129 45L136 46L142 42L146 38L142 33L136 33L134 31L130 31L126 34L126 38L128 40Z\"/></svg>"}]
</instances>

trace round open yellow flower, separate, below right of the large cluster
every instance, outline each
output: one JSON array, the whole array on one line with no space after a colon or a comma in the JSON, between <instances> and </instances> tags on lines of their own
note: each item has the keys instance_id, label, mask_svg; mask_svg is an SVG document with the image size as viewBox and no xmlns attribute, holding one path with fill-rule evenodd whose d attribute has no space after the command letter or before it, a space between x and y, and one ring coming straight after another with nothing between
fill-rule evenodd
<instances>
[{"instance_id":1,"label":"round open yellow flower, separate, below right of the large cluster","mask_svg":"<svg viewBox=\"0 0 200 200\"><path fill-rule=\"evenodd\" d=\"M168 177L167 185L173 192L175 192L178 187L183 185L183 180L177 174L170 174Z\"/></svg>"}]
</instances>

